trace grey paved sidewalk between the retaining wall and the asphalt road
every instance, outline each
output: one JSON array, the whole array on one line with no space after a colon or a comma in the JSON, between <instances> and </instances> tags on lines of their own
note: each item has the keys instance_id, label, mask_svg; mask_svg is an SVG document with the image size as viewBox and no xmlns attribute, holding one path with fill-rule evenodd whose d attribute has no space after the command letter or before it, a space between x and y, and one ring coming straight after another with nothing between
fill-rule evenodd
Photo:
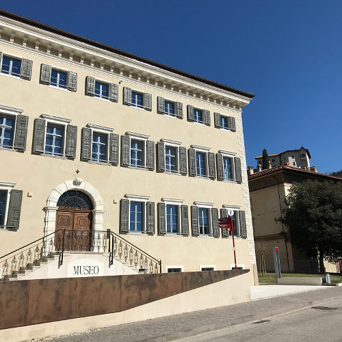
<instances>
[{"instance_id":1,"label":"grey paved sidewalk between the retaining wall and the asphalt road","mask_svg":"<svg viewBox=\"0 0 342 342\"><path fill-rule=\"evenodd\" d=\"M201 332L218 330L227 326L265 319L266 317L272 317L342 298L342 287L314 288L305 286L261 285L251 288L251 294L254 297L254 300L251 302L90 330L64 337L56 337L52 340L54 342L172 341L183 337L194 336ZM285 294L289 291L296 291L296 293L290 295ZM263 297L271 298L261 299ZM39 341L42 340L44 339L40 339Z\"/></svg>"}]
</instances>

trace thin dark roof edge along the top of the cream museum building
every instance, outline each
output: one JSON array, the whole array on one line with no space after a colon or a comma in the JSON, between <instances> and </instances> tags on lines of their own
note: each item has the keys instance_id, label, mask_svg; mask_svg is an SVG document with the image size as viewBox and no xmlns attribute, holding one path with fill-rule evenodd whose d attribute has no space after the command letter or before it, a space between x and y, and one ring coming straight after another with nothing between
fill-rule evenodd
<instances>
[{"instance_id":1,"label":"thin dark roof edge along the top of the cream museum building","mask_svg":"<svg viewBox=\"0 0 342 342\"><path fill-rule=\"evenodd\" d=\"M157 68L161 68L161 69L169 71L171 73L175 73L176 75L187 77L189 79L193 79L194 81L200 81L202 83L208 84L209 86L214 86L214 87L220 88L222 90L227 90L229 92L233 92L233 93L239 94L241 96L246 96L247 98L253 98L255 96L251 92L244 92L242 90L232 88L230 86L226 86L225 84L218 83L215 81L211 81L210 79L205 79L204 77L193 75L193 74L187 73L185 71L173 68L172 66L167 66L165 64L161 64L161 63L155 62L153 60L148 60L147 58L140 57L140 56L135 55L133 53L129 53L127 51L123 51L120 49L116 49L114 47L110 47L109 45L106 45L106 44L103 44L100 42L96 42L94 40L90 40L90 39L84 38L82 36L78 36L77 34L72 34L68 31L64 31L62 29L57 29L53 26L43 24L43 23L40 23L38 21L34 21L32 19L29 19L29 18L25 18L25 16L20 16L18 14L14 14L14 13L8 12L6 10L0 9L0 16L4 16L6 18L10 18L12 20L19 21L21 23L31 25L32 27L37 27L38 29L44 29L45 31L49 31L53 34L58 34L60 36L66 37L66 38L76 40L78 42L83 42L83 43L89 44L93 47L97 47L99 49L103 49L103 50L109 51L111 53L116 53L116 54L121 55L123 57L128 57L128 58L131 58L132 60L137 60L138 62L143 62L143 63L149 64L150 66L156 66Z\"/></svg>"}]
</instances>

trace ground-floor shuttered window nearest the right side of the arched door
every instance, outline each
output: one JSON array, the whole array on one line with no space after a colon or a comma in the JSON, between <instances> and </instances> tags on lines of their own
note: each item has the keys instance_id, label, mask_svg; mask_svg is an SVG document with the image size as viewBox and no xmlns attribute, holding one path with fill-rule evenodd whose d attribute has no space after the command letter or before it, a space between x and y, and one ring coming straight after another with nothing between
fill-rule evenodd
<instances>
[{"instance_id":1,"label":"ground-floor shuttered window nearest the right side of the arched door","mask_svg":"<svg viewBox=\"0 0 342 342\"><path fill-rule=\"evenodd\" d=\"M155 203L150 196L126 194L120 200L120 233L155 233Z\"/></svg>"}]
</instances>

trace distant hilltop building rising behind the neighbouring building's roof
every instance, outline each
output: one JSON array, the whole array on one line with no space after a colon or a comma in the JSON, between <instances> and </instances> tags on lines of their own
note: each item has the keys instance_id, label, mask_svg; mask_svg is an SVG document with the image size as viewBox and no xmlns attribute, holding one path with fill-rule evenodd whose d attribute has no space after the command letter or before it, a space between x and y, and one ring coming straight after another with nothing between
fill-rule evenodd
<instances>
[{"instance_id":1,"label":"distant hilltop building rising behind the neighbouring building's roof","mask_svg":"<svg viewBox=\"0 0 342 342\"><path fill-rule=\"evenodd\" d=\"M303 146L299 150L286 150L285 152L268 155L269 169L280 165L288 165L293 168L302 168L307 171L317 172L315 166L310 166L311 155L307 148ZM248 175L255 172L261 172L263 165L263 156L255 157L257 159L257 169L248 166Z\"/></svg>"}]
</instances>

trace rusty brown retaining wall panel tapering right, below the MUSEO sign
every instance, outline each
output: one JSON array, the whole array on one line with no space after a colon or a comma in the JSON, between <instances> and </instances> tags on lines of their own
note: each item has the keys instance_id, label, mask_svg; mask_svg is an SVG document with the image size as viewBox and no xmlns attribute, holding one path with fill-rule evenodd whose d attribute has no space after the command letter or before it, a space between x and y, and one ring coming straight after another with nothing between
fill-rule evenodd
<instances>
[{"instance_id":1,"label":"rusty brown retaining wall panel tapering right, below the MUSEO sign","mask_svg":"<svg viewBox=\"0 0 342 342\"><path fill-rule=\"evenodd\" d=\"M116 313L249 272L182 272L0 282L0 329Z\"/></svg>"}]
</instances>

